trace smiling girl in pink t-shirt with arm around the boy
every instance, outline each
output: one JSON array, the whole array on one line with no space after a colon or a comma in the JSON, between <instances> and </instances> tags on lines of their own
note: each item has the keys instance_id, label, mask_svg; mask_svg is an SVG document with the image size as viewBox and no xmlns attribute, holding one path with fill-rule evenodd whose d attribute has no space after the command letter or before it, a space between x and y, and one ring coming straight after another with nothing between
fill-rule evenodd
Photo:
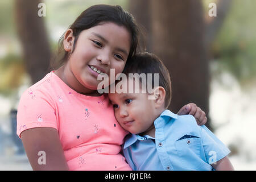
<instances>
[{"instance_id":1,"label":"smiling girl in pink t-shirt with arm around the boy","mask_svg":"<svg viewBox=\"0 0 256 182\"><path fill-rule=\"evenodd\" d=\"M34 170L131 170L120 154L127 134L97 76L121 73L135 53L138 28L120 6L89 7L62 37L63 65L20 98L17 134ZM110 83L109 83L110 84ZM195 104L180 114L206 122Z\"/></svg>"}]
</instances>

